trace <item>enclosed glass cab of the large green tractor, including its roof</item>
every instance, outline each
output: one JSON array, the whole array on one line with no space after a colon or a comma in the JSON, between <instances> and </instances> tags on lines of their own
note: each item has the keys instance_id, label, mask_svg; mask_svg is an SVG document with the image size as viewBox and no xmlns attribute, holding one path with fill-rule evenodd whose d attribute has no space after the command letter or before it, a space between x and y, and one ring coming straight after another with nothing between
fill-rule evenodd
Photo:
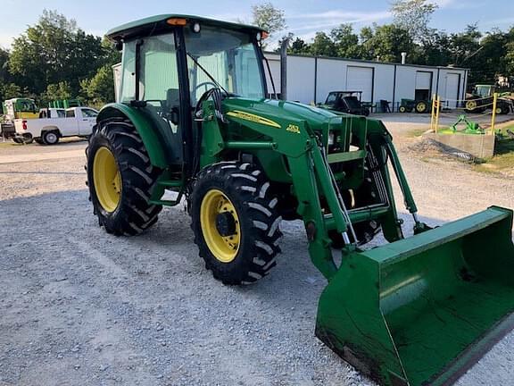
<instances>
[{"instance_id":1,"label":"enclosed glass cab of the large green tractor, including its roof","mask_svg":"<svg viewBox=\"0 0 514 386\"><path fill-rule=\"evenodd\" d=\"M177 170L193 162L203 101L213 98L220 110L226 96L267 95L258 46L266 32L256 27L170 14L122 25L107 36L123 49L120 102L158 126L171 147L167 162Z\"/></svg>"}]
</instances>

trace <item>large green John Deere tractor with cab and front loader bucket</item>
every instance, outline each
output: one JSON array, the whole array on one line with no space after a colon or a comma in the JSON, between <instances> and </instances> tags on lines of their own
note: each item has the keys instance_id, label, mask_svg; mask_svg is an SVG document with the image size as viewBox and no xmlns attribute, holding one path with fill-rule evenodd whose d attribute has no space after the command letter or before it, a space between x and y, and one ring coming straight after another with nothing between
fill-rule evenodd
<instances>
[{"instance_id":1,"label":"large green John Deere tractor with cab and front loader bucket","mask_svg":"<svg viewBox=\"0 0 514 386\"><path fill-rule=\"evenodd\" d=\"M382 122L266 98L261 29L170 14L108 37L123 48L120 103L87 148L105 231L137 235L185 198L206 267L238 285L269 274L280 222L302 219L328 281L316 335L384 385L448 384L509 331L510 210L420 222ZM414 218L407 239L390 170ZM378 232L390 244L363 248Z\"/></svg>"}]
</instances>

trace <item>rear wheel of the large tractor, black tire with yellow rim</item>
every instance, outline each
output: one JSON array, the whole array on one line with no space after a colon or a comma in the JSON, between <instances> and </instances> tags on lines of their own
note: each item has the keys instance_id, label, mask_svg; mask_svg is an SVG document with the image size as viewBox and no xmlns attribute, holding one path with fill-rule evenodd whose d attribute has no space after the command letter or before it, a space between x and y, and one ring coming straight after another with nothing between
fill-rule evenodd
<instances>
[{"instance_id":1,"label":"rear wheel of the large tractor, black tire with yellow rim","mask_svg":"<svg viewBox=\"0 0 514 386\"><path fill-rule=\"evenodd\" d=\"M159 170L129 122L101 122L86 150L87 186L100 226L137 235L157 222L162 206L149 203Z\"/></svg>"}]
</instances>

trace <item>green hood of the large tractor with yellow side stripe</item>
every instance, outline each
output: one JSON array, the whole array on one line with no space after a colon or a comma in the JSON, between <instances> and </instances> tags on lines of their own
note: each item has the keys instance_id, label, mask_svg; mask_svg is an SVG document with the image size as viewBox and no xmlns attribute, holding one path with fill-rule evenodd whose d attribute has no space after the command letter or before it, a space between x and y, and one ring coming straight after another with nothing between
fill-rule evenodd
<instances>
[{"instance_id":1,"label":"green hood of the large tractor with yellow side stripe","mask_svg":"<svg viewBox=\"0 0 514 386\"><path fill-rule=\"evenodd\" d=\"M311 130L323 130L342 122L341 114L318 107L276 99L228 97L223 100L223 113L264 125L286 128L291 122L306 122Z\"/></svg>"}]
</instances>

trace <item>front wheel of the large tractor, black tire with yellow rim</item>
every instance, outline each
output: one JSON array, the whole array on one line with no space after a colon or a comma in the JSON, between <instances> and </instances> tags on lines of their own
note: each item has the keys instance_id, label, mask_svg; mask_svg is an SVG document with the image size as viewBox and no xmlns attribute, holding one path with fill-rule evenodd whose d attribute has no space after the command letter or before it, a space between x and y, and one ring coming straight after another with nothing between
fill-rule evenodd
<instances>
[{"instance_id":1,"label":"front wheel of the large tractor, black tire with yellow rim","mask_svg":"<svg viewBox=\"0 0 514 386\"><path fill-rule=\"evenodd\" d=\"M190 197L195 244L214 278L249 284L267 275L280 252L278 198L264 173L238 162L198 174Z\"/></svg>"}]
</instances>

